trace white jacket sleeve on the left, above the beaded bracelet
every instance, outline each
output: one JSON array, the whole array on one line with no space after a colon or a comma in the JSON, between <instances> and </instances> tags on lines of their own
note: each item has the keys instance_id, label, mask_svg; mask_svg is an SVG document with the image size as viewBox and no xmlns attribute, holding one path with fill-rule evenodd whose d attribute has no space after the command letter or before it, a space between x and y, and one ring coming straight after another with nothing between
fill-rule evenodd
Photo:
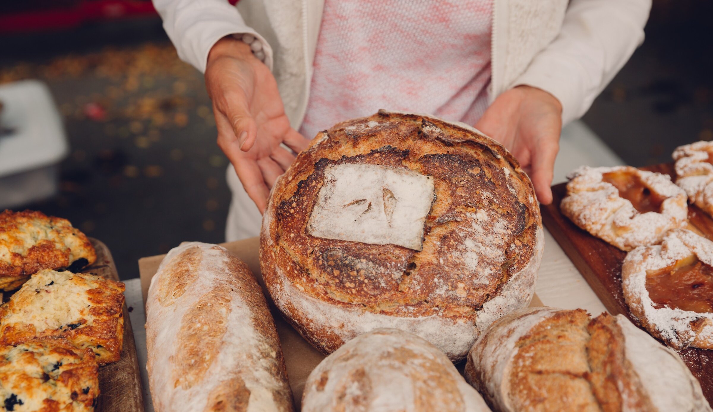
<instances>
[{"instance_id":1,"label":"white jacket sleeve on the left, above the beaded bracelet","mask_svg":"<svg viewBox=\"0 0 713 412\"><path fill-rule=\"evenodd\" d=\"M265 64L272 69L272 48L265 38L245 24L227 0L153 0L163 28L181 60L205 72L208 52L229 34L249 33L262 42Z\"/></svg>"}]
</instances>

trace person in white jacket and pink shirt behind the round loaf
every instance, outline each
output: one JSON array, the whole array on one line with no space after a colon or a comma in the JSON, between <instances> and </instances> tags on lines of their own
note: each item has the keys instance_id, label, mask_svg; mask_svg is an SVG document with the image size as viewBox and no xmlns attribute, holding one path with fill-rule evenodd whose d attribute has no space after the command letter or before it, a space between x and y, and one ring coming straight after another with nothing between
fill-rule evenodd
<instances>
[{"instance_id":1,"label":"person in white jacket and pink shirt behind the round loaf","mask_svg":"<svg viewBox=\"0 0 713 412\"><path fill-rule=\"evenodd\" d=\"M205 73L232 166L228 241L256 236L270 188L320 130L380 108L474 125L538 200L562 125L643 41L651 0L153 0ZM242 183L242 185L241 185Z\"/></svg>"}]
</instances>

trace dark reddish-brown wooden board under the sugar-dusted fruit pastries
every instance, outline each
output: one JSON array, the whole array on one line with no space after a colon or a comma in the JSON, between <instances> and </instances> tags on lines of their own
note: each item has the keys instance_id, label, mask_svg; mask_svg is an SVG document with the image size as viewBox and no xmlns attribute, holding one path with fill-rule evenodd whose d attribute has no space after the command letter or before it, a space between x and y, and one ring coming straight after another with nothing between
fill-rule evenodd
<instances>
[{"instance_id":1,"label":"dark reddish-brown wooden board under the sugar-dusted fruit pastries","mask_svg":"<svg viewBox=\"0 0 713 412\"><path fill-rule=\"evenodd\" d=\"M642 169L666 173L672 177L674 175L672 163ZM552 204L540 206L545 227L587 280L607 311L613 315L623 314L634 324L639 325L637 319L630 313L622 292L621 269L626 252L590 235L585 230L581 230L565 217L560 212L560 202L566 192L566 183L553 186ZM689 205L688 217L689 222L695 228L713 240L713 219L711 217L692 205ZM679 351L679 354L700 381L708 403L713 405L713 351L687 348Z\"/></svg>"}]
</instances>

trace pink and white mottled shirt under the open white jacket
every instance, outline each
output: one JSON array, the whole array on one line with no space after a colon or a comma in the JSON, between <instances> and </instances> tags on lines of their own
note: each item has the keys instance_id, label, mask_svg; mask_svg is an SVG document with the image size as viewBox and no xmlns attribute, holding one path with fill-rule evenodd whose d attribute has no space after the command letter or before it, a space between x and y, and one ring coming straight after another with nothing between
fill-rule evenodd
<instances>
[{"instance_id":1,"label":"pink and white mottled shirt under the open white jacket","mask_svg":"<svg viewBox=\"0 0 713 412\"><path fill-rule=\"evenodd\" d=\"M325 0L300 132L376 110L474 124L488 107L493 0Z\"/></svg>"}]
</instances>

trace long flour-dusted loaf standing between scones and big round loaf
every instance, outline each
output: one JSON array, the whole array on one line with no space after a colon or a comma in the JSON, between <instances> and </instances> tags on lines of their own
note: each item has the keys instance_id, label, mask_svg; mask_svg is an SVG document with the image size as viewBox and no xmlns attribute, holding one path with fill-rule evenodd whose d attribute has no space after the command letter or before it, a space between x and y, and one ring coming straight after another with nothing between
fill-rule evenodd
<instances>
[{"instance_id":1,"label":"long flour-dusted loaf standing between scones and big round loaf","mask_svg":"<svg viewBox=\"0 0 713 412\"><path fill-rule=\"evenodd\" d=\"M168 252L148 289L146 346L157 412L293 410L265 297L223 247Z\"/></svg>"}]
</instances>

